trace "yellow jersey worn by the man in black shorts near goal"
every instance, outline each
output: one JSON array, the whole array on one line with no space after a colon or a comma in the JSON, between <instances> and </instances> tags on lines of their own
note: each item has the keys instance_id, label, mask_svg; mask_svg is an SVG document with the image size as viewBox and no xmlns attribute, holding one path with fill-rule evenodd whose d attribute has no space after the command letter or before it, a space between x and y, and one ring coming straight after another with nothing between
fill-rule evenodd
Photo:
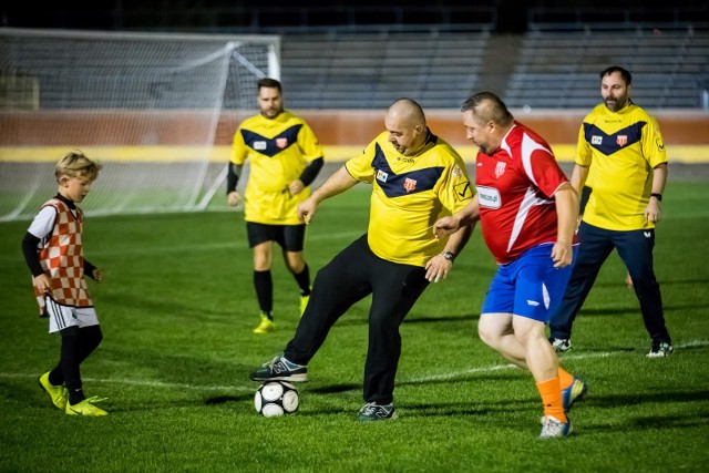
<instances>
[{"instance_id":1,"label":"yellow jersey worn by the man in black shorts near goal","mask_svg":"<svg viewBox=\"0 0 709 473\"><path fill-rule=\"evenodd\" d=\"M250 163L244 193L244 218L267 225L298 225L296 207L310 196L310 187L291 196L288 185L308 163L322 157L312 130L300 117L284 111L269 120L263 115L242 122L234 134L232 162Z\"/></svg>"}]
</instances>

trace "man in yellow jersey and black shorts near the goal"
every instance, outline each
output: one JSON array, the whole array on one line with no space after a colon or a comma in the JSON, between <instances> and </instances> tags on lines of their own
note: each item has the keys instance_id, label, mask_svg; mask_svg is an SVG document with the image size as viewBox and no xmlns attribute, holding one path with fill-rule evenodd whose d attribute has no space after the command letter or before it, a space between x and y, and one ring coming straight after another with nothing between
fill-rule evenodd
<instances>
[{"instance_id":1,"label":"man in yellow jersey and black shorts near the goal","mask_svg":"<svg viewBox=\"0 0 709 473\"><path fill-rule=\"evenodd\" d=\"M304 258L305 224L296 207L310 196L308 187L322 167L322 148L300 117L284 110L280 82L258 81L260 114L245 120L234 135L227 173L227 202L242 200L237 182L248 158L250 174L244 193L244 219L254 249L254 287L260 322L254 333L274 331L274 241L300 288L300 313L310 298L310 273Z\"/></svg>"}]
</instances>

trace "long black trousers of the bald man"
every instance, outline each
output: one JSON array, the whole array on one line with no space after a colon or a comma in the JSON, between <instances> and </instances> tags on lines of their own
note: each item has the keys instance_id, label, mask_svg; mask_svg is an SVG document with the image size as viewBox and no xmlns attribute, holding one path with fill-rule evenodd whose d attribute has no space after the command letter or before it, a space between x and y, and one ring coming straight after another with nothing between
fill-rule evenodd
<instances>
[{"instance_id":1,"label":"long black trousers of the bald man","mask_svg":"<svg viewBox=\"0 0 709 473\"><path fill-rule=\"evenodd\" d=\"M371 294L364 401L392 402L401 356L399 326L428 285L424 268L379 258L363 235L318 271L310 302L285 357L308 364L335 322L354 302Z\"/></svg>"}]
</instances>

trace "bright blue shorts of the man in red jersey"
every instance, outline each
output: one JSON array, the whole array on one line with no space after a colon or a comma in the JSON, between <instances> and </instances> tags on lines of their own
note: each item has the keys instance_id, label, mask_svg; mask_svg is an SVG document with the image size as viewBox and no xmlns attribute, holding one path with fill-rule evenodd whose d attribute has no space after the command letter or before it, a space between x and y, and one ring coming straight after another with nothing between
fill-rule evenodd
<instances>
[{"instance_id":1,"label":"bright blue shorts of the man in red jersey","mask_svg":"<svg viewBox=\"0 0 709 473\"><path fill-rule=\"evenodd\" d=\"M527 249L520 258L500 265L483 302L482 313L514 313L548 322L564 297L574 264L556 269L553 244ZM578 246L574 246L574 261Z\"/></svg>"}]
</instances>

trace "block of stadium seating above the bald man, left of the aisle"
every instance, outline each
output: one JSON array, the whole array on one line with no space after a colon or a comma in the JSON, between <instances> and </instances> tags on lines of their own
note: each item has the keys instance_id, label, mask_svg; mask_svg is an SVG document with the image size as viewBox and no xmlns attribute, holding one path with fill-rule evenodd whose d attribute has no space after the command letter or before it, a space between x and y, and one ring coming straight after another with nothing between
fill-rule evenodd
<instances>
[{"instance_id":1,"label":"block of stadium seating above the bald man, left of the aisle","mask_svg":"<svg viewBox=\"0 0 709 473\"><path fill-rule=\"evenodd\" d=\"M291 109L382 109L401 96L455 107L475 86L490 38L474 32L287 34L281 78Z\"/></svg>"}]
</instances>

